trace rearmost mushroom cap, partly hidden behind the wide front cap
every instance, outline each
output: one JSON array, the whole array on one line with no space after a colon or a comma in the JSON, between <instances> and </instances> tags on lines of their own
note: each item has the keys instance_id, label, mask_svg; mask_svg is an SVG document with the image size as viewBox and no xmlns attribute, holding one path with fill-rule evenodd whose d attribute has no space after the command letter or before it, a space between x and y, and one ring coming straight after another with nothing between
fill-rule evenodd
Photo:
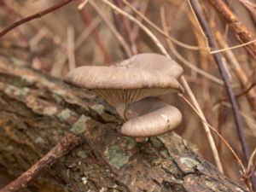
<instances>
[{"instance_id":1,"label":"rearmost mushroom cap, partly hidden behind the wide front cap","mask_svg":"<svg viewBox=\"0 0 256 192\"><path fill-rule=\"evenodd\" d=\"M117 66L128 68L143 68L166 73L175 79L178 79L182 73L183 68L180 67L176 61L167 58L164 55L155 53L143 53L133 55L129 59L122 61Z\"/></svg>"}]
</instances>

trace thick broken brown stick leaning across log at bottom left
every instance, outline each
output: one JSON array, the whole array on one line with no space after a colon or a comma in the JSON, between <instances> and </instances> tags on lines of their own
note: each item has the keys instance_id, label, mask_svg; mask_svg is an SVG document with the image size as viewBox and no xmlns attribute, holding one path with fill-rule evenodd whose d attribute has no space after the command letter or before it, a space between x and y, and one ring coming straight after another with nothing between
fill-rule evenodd
<instances>
[{"instance_id":1,"label":"thick broken brown stick leaning across log at bottom left","mask_svg":"<svg viewBox=\"0 0 256 192\"><path fill-rule=\"evenodd\" d=\"M16 178L15 181L1 189L0 192L16 192L25 189L28 183L44 173L49 166L52 166L56 160L77 147L79 143L81 143L80 137L67 133L62 137L61 142L55 145L48 154L45 154L41 160L38 160L36 164L20 175L20 177Z\"/></svg>"}]
</instances>

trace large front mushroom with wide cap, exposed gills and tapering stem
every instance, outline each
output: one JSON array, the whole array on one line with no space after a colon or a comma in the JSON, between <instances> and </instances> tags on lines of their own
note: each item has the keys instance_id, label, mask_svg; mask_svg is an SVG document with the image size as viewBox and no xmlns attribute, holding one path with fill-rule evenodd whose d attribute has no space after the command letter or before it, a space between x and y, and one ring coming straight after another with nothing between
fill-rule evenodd
<instances>
[{"instance_id":1,"label":"large front mushroom with wide cap, exposed gills and tapering stem","mask_svg":"<svg viewBox=\"0 0 256 192\"><path fill-rule=\"evenodd\" d=\"M177 79L154 70L127 67L78 67L65 81L94 90L123 117L125 106L148 96L183 91Z\"/></svg>"}]
</instances>

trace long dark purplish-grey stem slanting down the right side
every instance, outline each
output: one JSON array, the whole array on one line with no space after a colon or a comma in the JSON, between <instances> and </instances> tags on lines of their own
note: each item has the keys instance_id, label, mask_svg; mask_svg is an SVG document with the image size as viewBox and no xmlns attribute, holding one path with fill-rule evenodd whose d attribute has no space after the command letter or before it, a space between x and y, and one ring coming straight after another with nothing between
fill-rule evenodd
<instances>
[{"instance_id":1,"label":"long dark purplish-grey stem slanting down the right side","mask_svg":"<svg viewBox=\"0 0 256 192\"><path fill-rule=\"evenodd\" d=\"M199 22L201 24L203 32L205 33L205 35L208 39L209 45L213 48L217 48L218 45L216 44L216 42L215 42L215 40L212 36L212 32L211 32L210 27L207 24L207 20L205 19L204 15L202 15L202 13L201 13L199 4L197 3L196 0L190 0L190 3L191 3L191 6L194 9L194 12L195 12L195 15L196 15L197 19L199 20ZM223 61L221 60L220 55L215 54L213 56L214 56L214 59L215 59L217 65L218 65L219 73L222 75L222 77L224 79L224 84L225 84L228 96L230 97L230 102L231 102L231 105L232 105L234 118L235 118L235 121L236 121L236 129L237 129L238 136L239 136L239 139L240 139L241 148L243 150L244 156L246 158L246 163L247 163L248 160L249 160L249 152L248 152L247 142L246 142L246 138L245 138L244 131L243 131L241 116L240 116L240 113L239 113L239 107L238 107L238 104L236 102L236 96L235 96L235 94L234 94L234 92L233 92L233 90L230 86L230 79L228 78L228 75L227 75L227 73L224 69L224 64L223 64ZM252 180L254 180L253 177L252 177ZM252 183L254 183L254 181L252 181Z\"/></svg>"}]
</instances>

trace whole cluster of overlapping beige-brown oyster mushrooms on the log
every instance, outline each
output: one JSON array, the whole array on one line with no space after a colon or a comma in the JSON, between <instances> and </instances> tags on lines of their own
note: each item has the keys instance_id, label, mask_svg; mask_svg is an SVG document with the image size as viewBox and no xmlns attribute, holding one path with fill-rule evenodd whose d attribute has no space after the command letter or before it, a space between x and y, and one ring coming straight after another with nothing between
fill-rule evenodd
<instances>
[{"instance_id":1,"label":"whole cluster of overlapping beige-brown oyster mushrooms on the log","mask_svg":"<svg viewBox=\"0 0 256 192\"><path fill-rule=\"evenodd\" d=\"M179 110L160 97L183 91L177 82L182 73L172 59L144 53L111 67L75 68L65 81L102 96L125 119L120 132L140 138L162 135L181 123Z\"/></svg>"}]
</instances>

